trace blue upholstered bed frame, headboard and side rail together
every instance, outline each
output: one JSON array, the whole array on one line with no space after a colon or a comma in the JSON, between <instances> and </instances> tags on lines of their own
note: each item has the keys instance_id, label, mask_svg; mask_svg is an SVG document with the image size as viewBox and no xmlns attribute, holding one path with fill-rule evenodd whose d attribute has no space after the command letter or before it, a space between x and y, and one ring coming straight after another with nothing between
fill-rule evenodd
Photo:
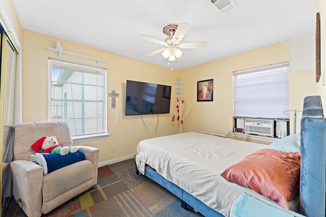
<instances>
[{"instance_id":1,"label":"blue upholstered bed frame, headboard and side rail together","mask_svg":"<svg viewBox=\"0 0 326 217\"><path fill-rule=\"evenodd\" d=\"M137 174L139 175L136 166ZM204 216L224 216L146 167L145 176L165 187L187 205ZM308 217L326 216L326 120L320 96L304 99L301 119L300 212Z\"/></svg>"}]
</instances>

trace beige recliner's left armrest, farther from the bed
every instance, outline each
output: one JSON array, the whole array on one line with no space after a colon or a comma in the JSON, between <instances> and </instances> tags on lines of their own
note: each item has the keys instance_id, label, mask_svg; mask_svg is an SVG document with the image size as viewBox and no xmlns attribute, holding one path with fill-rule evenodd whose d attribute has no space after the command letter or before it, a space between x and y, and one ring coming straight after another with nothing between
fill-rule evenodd
<instances>
[{"instance_id":1,"label":"beige recliner's left armrest, farther from the bed","mask_svg":"<svg viewBox=\"0 0 326 217\"><path fill-rule=\"evenodd\" d=\"M22 209L26 214L40 216L42 214L42 167L29 160L14 160L10 163L10 167L14 186L23 185L14 188L15 199L21 199Z\"/></svg>"}]
</instances>

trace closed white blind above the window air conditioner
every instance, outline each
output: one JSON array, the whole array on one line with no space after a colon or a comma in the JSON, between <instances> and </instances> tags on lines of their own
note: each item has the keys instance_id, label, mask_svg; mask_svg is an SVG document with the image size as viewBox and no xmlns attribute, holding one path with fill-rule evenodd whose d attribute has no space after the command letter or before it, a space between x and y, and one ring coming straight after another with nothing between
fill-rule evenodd
<instances>
[{"instance_id":1,"label":"closed white blind above the window air conditioner","mask_svg":"<svg viewBox=\"0 0 326 217\"><path fill-rule=\"evenodd\" d=\"M233 72L233 116L288 120L288 62Z\"/></svg>"}]
</instances>

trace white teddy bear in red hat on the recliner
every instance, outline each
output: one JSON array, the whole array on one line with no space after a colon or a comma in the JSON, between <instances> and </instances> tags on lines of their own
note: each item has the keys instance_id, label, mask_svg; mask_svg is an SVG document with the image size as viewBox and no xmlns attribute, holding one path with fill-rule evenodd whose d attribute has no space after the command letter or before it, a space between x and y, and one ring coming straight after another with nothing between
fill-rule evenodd
<instances>
[{"instance_id":1,"label":"white teddy bear in red hat on the recliner","mask_svg":"<svg viewBox=\"0 0 326 217\"><path fill-rule=\"evenodd\" d=\"M43 150L42 153L51 153L51 154L60 154L66 155L68 153L75 153L78 150L78 147L68 147L59 145L57 137L55 135L51 135L50 137L42 137L38 141L36 141L32 148L39 153L40 149Z\"/></svg>"}]
</instances>

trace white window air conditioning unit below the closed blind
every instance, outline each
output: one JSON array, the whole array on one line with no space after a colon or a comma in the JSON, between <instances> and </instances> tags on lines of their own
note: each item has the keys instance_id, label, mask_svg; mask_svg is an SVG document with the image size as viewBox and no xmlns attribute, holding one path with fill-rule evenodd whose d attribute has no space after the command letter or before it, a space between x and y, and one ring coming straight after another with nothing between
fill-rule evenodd
<instances>
[{"instance_id":1,"label":"white window air conditioning unit below the closed blind","mask_svg":"<svg viewBox=\"0 0 326 217\"><path fill-rule=\"evenodd\" d=\"M274 137L274 120L244 119L244 132Z\"/></svg>"}]
</instances>

